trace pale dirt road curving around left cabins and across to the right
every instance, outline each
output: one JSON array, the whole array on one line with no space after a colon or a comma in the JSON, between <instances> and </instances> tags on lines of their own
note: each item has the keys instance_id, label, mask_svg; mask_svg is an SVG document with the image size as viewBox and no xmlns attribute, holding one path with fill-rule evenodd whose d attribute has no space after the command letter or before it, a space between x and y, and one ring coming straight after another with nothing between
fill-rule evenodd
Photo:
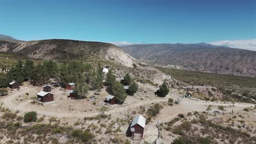
<instances>
[{"instance_id":1,"label":"pale dirt road curving around left cabins and across to the right","mask_svg":"<svg viewBox=\"0 0 256 144\"><path fill-rule=\"evenodd\" d=\"M13 99L15 99L15 97L18 97L18 95L22 95L25 94L26 92L30 92L31 90L36 90L36 87L33 88L27 88L25 89L24 87L22 87L20 89L20 91L18 93L13 93L8 95L7 97L4 98L3 103L5 106L7 106L10 110L19 110L21 112L28 112L28 111L36 111L37 113L43 114L43 115L50 115L50 116L56 116L56 117L91 117L91 116L96 116L99 114L99 112L94 112L94 113L59 113L59 112L51 112L51 111L44 111L44 110L38 110L38 109L31 109L30 107L27 107L26 105L28 103L30 103L32 100L27 100L24 103L21 103L19 105L15 105L12 101ZM158 103L161 101L167 101L167 98L162 98L162 99L156 99L156 100L149 100L149 101L143 101L141 103L137 103L137 104L133 104L133 105L129 105L129 106L124 106L124 107L119 107L117 109L114 110L110 110L105 112L106 114L110 114L110 113L117 113L117 112L121 112L121 111L125 111L128 109L132 109L141 105L147 105L147 104L151 104L151 103ZM176 113L184 113L184 112L189 112L189 111L193 111L193 110L197 110L196 107L200 107L200 106L206 106L206 105L223 105L223 106L228 106L230 104L211 104L211 103L203 103L200 101L195 101L195 100L184 100L182 101L182 103L180 105L178 105L178 107L174 106L173 109L175 109L175 114ZM247 105L247 104L236 104L235 106L240 107L240 109L242 107L248 107L251 105ZM187 107L186 109L184 109L184 107ZM177 109L178 108L178 109ZM171 113L168 113L171 114Z\"/></svg>"}]
</instances>

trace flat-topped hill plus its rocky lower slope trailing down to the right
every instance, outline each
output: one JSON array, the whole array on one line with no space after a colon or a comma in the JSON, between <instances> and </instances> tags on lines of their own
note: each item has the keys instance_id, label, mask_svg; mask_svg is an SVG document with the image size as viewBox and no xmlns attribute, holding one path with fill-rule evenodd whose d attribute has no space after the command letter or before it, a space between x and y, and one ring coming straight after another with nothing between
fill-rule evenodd
<instances>
[{"instance_id":1,"label":"flat-topped hill plus its rocky lower slope trailing down to the right","mask_svg":"<svg viewBox=\"0 0 256 144\"><path fill-rule=\"evenodd\" d=\"M83 59L86 62L94 64L100 62L104 67L113 68L118 79L121 79L126 73L131 73L137 79L145 79L153 83L160 84L162 80L166 79L172 85L177 83L171 76L165 75L150 65L142 64L137 59L127 55L120 47L108 43L64 39L21 42L2 40L0 41L0 52L4 52L5 55L11 53L15 56L32 58L38 61L63 62L66 59ZM8 59L6 61L9 62Z\"/></svg>"}]
</instances>

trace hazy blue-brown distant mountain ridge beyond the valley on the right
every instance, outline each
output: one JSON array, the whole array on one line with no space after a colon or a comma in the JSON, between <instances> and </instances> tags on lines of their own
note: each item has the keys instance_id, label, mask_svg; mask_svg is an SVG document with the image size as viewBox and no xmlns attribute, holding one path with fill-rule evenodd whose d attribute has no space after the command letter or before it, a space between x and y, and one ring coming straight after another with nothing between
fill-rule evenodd
<instances>
[{"instance_id":1,"label":"hazy blue-brown distant mountain ridge beyond the valley on the right","mask_svg":"<svg viewBox=\"0 0 256 144\"><path fill-rule=\"evenodd\" d=\"M200 44L143 44L122 49L155 66L219 74L256 76L256 51ZM163 65L164 64L164 65Z\"/></svg>"}]
</instances>

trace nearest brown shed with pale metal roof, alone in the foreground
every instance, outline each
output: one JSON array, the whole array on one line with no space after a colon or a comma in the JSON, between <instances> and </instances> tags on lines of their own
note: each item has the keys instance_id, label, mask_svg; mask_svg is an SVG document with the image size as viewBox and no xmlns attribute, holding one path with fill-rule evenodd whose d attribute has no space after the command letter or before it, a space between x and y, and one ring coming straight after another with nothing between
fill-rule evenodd
<instances>
[{"instance_id":1,"label":"nearest brown shed with pale metal roof, alone in the foreground","mask_svg":"<svg viewBox=\"0 0 256 144\"><path fill-rule=\"evenodd\" d=\"M146 118L144 118L142 115L135 117L130 126L132 137L142 139L144 135L145 125Z\"/></svg>"}]
</instances>

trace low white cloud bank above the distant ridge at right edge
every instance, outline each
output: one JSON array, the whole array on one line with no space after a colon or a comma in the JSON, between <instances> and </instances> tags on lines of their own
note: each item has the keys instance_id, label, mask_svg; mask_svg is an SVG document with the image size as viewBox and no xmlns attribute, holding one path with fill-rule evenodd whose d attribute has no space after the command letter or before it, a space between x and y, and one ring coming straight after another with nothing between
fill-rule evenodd
<instances>
[{"instance_id":1,"label":"low white cloud bank above the distant ridge at right edge","mask_svg":"<svg viewBox=\"0 0 256 144\"><path fill-rule=\"evenodd\" d=\"M220 40L211 42L212 45L225 45L232 48L256 51L256 39Z\"/></svg>"}]
</instances>

